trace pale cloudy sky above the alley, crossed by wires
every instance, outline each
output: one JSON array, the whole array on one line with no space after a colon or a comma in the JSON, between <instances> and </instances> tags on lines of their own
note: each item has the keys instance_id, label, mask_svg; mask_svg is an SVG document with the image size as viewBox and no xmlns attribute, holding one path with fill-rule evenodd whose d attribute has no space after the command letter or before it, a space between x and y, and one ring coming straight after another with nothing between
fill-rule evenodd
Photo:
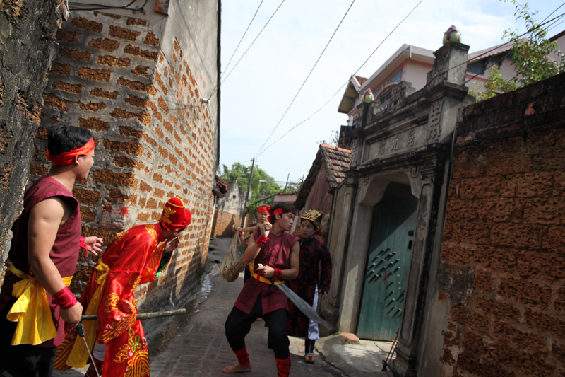
<instances>
[{"instance_id":1,"label":"pale cloudy sky above the alley, crossed by wires","mask_svg":"<svg viewBox=\"0 0 565 377\"><path fill-rule=\"evenodd\" d=\"M282 6L273 16L281 2ZM435 51L441 47L444 32L451 25L459 28L462 42L470 45L470 52L505 42L502 33L508 28L525 32L523 23L514 20L515 8L508 2L423 0L362 66L419 2L355 0L283 117L352 0L263 0L260 7L261 0L222 1L221 59L222 80L225 81L221 86L220 166L232 166L235 162L251 165L251 158L256 158L256 166L283 185L289 174L290 181L297 182L308 175L319 141L329 141L332 131L347 124L347 115L338 113L338 104L345 88L340 89L340 86L352 74L371 76L404 43ZM529 2L530 10L538 11L538 22L562 4L564 0ZM258 7L254 21L234 54ZM561 13L565 13L565 6L551 18ZM271 16L263 33L236 66ZM565 17L557 23L564 20ZM562 30L565 23L556 24L549 36ZM232 62L226 67L232 54ZM330 100L335 93L338 94ZM330 102L316 115L273 144L328 100ZM273 145L257 156L273 129L266 146Z\"/></svg>"}]
</instances>

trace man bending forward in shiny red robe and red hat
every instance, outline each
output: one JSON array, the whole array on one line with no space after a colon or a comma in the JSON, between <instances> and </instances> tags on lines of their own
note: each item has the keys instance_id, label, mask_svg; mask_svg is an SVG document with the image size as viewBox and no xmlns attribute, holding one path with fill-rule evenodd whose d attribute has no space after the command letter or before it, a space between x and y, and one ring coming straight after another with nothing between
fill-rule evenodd
<instances>
[{"instance_id":1,"label":"man bending forward in shiny red robe and red hat","mask_svg":"<svg viewBox=\"0 0 565 377\"><path fill-rule=\"evenodd\" d=\"M94 356L86 377L96 376L95 366L102 376L150 376L147 340L141 321L136 319L133 291L167 268L191 217L182 200L173 197L157 224L133 226L119 233L98 260L80 300L84 315L98 315L97 320L84 322L85 340ZM85 342L76 341L75 329L67 329L55 369L83 368L88 359Z\"/></svg>"}]
</instances>

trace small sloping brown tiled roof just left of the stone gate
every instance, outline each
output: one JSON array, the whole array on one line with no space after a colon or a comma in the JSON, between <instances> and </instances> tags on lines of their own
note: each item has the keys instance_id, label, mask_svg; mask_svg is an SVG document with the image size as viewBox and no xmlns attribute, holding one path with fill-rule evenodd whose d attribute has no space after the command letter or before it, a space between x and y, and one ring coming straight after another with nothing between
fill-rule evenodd
<instances>
[{"instance_id":1,"label":"small sloping brown tiled roof just left of the stone gate","mask_svg":"<svg viewBox=\"0 0 565 377\"><path fill-rule=\"evenodd\" d=\"M322 164L324 168L326 168L326 175L328 177L327 179L330 190L333 190L338 187L343 180L345 180L345 172L349 170L350 161L351 151L349 149L320 144L320 148L318 149L318 153L316 153L316 158L312 163L308 176L304 180L304 183L302 183L302 187L300 187L300 191L298 192L295 207L297 209L301 209L306 203L306 198L316 181L316 177L318 176Z\"/></svg>"}]
</instances>

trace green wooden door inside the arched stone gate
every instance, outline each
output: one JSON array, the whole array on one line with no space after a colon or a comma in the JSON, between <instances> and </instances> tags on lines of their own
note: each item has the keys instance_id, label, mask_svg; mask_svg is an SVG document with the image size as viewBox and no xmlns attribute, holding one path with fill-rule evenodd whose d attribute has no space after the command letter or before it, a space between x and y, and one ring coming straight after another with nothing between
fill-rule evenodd
<instances>
[{"instance_id":1,"label":"green wooden door inside the arched stone gate","mask_svg":"<svg viewBox=\"0 0 565 377\"><path fill-rule=\"evenodd\" d=\"M374 209L357 337L394 340L402 318L412 239L408 231L414 228L417 199L381 203Z\"/></svg>"}]
</instances>

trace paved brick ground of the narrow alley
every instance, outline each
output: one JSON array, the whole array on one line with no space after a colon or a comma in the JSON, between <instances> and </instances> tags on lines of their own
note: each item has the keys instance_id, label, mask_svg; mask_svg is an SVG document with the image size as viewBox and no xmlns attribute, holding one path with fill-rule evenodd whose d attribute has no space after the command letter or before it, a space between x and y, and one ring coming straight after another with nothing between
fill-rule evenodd
<instances>
[{"instance_id":1,"label":"paved brick ground of the narrow alley","mask_svg":"<svg viewBox=\"0 0 565 377\"><path fill-rule=\"evenodd\" d=\"M226 239L225 239L226 240ZM231 239L227 240L229 248ZM222 239L217 242L222 242ZM226 242L226 241L223 241ZM222 245L223 246L223 245ZM218 256L225 253L218 250ZM210 255L210 258L213 258ZM226 376L225 366L237 364L237 359L225 339L224 323L227 315L243 286L243 274L235 282L227 283L218 273L218 267L210 273L212 289L190 318L189 324L168 342L159 354L150 357L151 376ZM251 359L252 371L239 373L244 377L276 376L275 356L267 348L267 327L264 322L256 322L246 337L246 345ZM318 356L316 363L307 364L303 359L304 341L292 339L291 376L345 376L338 369Z\"/></svg>"}]
</instances>

